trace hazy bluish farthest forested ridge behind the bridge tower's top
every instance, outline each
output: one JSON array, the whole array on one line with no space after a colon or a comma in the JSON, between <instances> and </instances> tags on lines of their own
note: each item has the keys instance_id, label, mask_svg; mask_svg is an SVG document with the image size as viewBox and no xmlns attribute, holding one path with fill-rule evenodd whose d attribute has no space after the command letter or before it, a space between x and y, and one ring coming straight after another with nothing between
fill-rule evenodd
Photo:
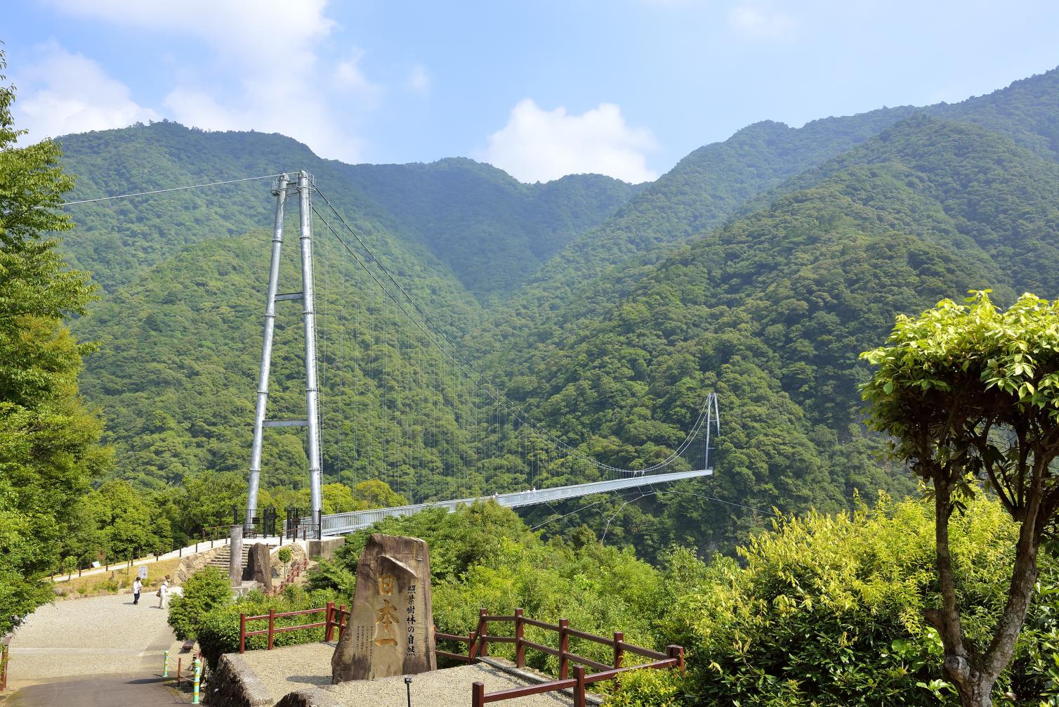
<instances>
[{"instance_id":1,"label":"hazy bluish farthest forested ridge behind the bridge tower's top","mask_svg":"<svg viewBox=\"0 0 1059 707\"><path fill-rule=\"evenodd\" d=\"M445 310L469 290L504 293L638 188L599 175L522 184L467 159L432 164L351 165L321 159L280 135L205 132L152 123L61 139L77 175L70 200L308 170L362 236L409 270L412 286L453 278ZM83 205L65 247L107 290L131 282L189 244L238 235L272 222L267 181ZM420 296L429 297L427 289Z\"/></svg>"}]
</instances>

